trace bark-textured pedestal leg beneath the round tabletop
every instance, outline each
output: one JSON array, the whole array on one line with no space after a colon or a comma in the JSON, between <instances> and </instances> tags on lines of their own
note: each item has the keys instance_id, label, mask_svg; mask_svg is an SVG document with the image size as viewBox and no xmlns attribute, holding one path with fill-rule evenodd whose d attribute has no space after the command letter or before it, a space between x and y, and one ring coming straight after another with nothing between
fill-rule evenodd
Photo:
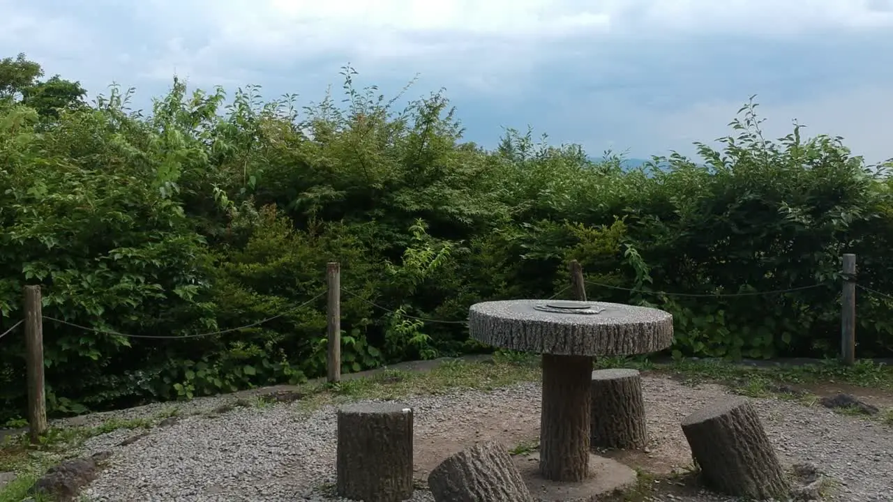
<instances>
[{"instance_id":1,"label":"bark-textured pedestal leg beneath the round tabletop","mask_svg":"<svg viewBox=\"0 0 893 502\"><path fill-rule=\"evenodd\" d=\"M543 356L539 469L547 480L586 479L591 374L592 357Z\"/></svg>"}]
</instances>

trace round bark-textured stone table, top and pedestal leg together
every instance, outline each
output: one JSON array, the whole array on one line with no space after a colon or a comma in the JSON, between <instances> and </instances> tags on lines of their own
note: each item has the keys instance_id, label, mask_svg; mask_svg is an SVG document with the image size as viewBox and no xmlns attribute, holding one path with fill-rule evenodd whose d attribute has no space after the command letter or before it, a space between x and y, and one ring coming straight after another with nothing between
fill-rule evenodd
<instances>
[{"instance_id":1,"label":"round bark-textured stone table, top and pedestal leg together","mask_svg":"<svg viewBox=\"0 0 893 502\"><path fill-rule=\"evenodd\" d=\"M483 343L543 355L539 470L551 481L588 476L594 358L647 354L672 343L672 314L601 302L483 302L472 305L468 326Z\"/></svg>"}]
</instances>

